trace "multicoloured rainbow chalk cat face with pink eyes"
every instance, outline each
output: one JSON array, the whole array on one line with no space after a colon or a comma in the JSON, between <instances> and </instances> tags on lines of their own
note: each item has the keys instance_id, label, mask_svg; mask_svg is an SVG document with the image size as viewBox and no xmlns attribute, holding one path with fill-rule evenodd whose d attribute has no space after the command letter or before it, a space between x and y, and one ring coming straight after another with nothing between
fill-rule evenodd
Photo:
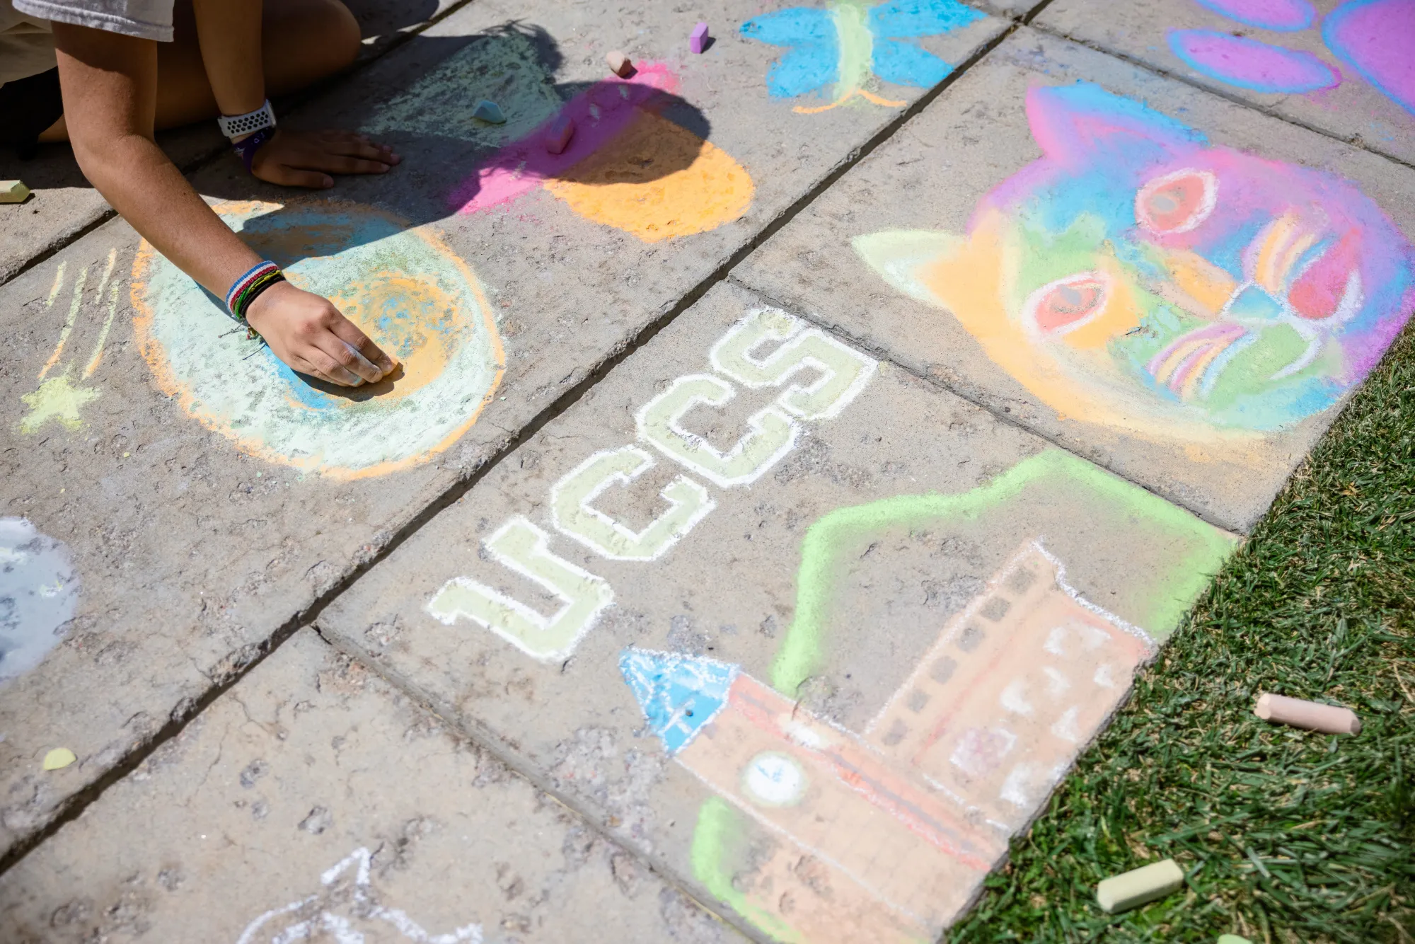
<instances>
[{"instance_id":1,"label":"multicoloured rainbow chalk cat face with pink eyes","mask_svg":"<svg viewBox=\"0 0 1415 944\"><path fill-rule=\"evenodd\" d=\"M853 245L1063 416L1191 442L1281 430L1358 384L1415 306L1415 249L1344 180L1091 84L1030 89L1027 120L1043 157L966 236Z\"/></svg>"}]
</instances>

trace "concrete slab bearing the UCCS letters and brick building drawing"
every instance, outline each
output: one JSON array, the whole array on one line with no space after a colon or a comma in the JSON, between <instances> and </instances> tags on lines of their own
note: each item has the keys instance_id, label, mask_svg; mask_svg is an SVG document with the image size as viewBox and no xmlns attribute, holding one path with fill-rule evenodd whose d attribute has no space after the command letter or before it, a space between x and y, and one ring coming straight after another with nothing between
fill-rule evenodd
<instances>
[{"instance_id":1,"label":"concrete slab bearing the UCCS letters and brick building drawing","mask_svg":"<svg viewBox=\"0 0 1415 944\"><path fill-rule=\"evenodd\" d=\"M320 626L764 936L932 940L1231 546L720 284Z\"/></svg>"}]
</instances>

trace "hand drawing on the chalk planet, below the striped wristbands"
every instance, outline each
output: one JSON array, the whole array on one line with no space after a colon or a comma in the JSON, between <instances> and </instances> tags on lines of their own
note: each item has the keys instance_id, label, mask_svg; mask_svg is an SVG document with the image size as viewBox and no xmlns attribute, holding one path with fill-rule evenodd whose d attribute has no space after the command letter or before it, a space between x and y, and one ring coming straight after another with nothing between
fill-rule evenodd
<instances>
[{"instance_id":1,"label":"hand drawing on the chalk planet, below the striped wristbands","mask_svg":"<svg viewBox=\"0 0 1415 944\"><path fill-rule=\"evenodd\" d=\"M393 359L328 299L289 282L277 282L262 292L246 309L246 323L260 333L277 358L300 374L330 384L376 384L395 367Z\"/></svg>"}]
</instances>

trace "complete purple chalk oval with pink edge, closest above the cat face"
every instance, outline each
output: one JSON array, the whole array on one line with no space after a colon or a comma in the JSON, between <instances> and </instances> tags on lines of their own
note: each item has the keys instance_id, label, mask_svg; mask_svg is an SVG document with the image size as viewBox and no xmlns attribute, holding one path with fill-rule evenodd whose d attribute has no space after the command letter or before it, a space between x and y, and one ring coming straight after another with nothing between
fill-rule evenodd
<instances>
[{"instance_id":1,"label":"complete purple chalk oval with pink edge, closest above the cat face","mask_svg":"<svg viewBox=\"0 0 1415 944\"><path fill-rule=\"evenodd\" d=\"M1190 68L1254 92L1316 92L1341 82L1336 69L1310 52L1218 30L1170 30L1169 48Z\"/></svg>"}]
</instances>

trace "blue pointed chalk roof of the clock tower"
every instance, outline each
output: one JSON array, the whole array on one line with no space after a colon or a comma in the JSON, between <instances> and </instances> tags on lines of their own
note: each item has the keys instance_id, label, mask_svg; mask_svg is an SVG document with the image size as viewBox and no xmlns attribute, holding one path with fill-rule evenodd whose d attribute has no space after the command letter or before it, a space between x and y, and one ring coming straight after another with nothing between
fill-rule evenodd
<instances>
[{"instance_id":1,"label":"blue pointed chalk roof of the clock tower","mask_svg":"<svg viewBox=\"0 0 1415 944\"><path fill-rule=\"evenodd\" d=\"M648 727L672 756L727 705L739 668L693 655L625 650L620 672L634 689Z\"/></svg>"}]
</instances>

